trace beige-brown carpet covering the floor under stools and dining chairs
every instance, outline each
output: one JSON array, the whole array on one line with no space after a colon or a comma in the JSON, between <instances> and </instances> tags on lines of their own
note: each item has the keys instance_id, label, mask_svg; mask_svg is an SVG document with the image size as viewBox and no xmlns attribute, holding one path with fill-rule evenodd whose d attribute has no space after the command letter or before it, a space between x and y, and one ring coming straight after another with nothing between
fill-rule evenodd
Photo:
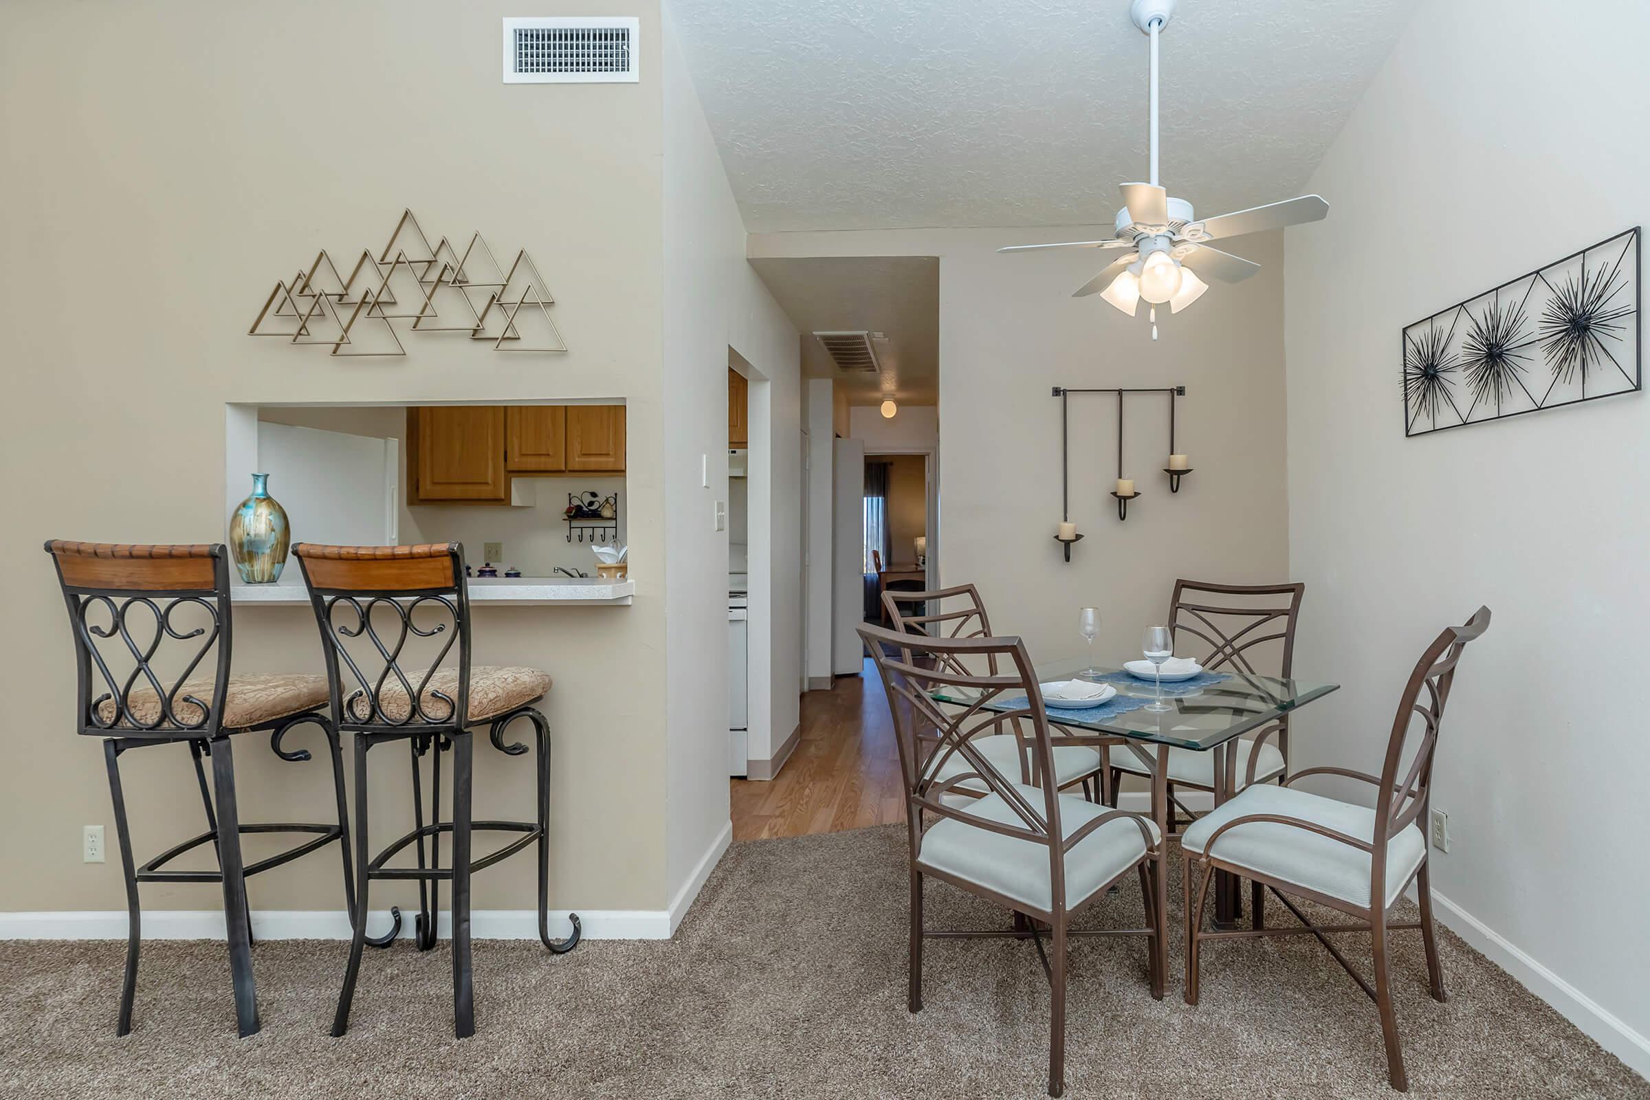
<instances>
[{"instance_id":1,"label":"beige-brown carpet covering the floor under stools and dining chairs","mask_svg":"<svg viewBox=\"0 0 1650 1100\"><path fill-rule=\"evenodd\" d=\"M1002 910L929 889L934 922L1002 927ZM1138 920L1130 884L1081 924ZM122 945L0 943L0 1095L1043 1095L1035 948L929 942L927 1008L911 1016L904 925L901 826L734 844L673 942L589 942L561 958L478 943L478 1031L464 1042L444 947L368 952L353 1027L330 1039L346 945L259 943L264 1029L238 1041L219 945L145 945L135 1029L116 1039ZM1419 935L1399 933L1394 952L1411 1095L1650 1097L1459 938L1445 932L1440 950L1447 1004L1427 998ZM1213 943L1204 958L1203 1004L1188 1008L1178 950L1158 1003L1140 942L1079 940L1066 1095L1398 1095L1374 1006L1310 937Z\"/></svg>"}]
</instances>

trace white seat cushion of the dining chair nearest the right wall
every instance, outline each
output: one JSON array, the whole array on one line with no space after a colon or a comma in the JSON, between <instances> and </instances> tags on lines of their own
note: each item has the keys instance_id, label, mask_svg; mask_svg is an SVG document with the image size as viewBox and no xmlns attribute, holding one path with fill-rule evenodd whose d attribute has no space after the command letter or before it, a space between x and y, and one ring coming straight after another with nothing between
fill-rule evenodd
<instances>
[{"instance_id":1,"label":"white seat cushion of the dining chair nearest the right wall","mask_svg":"<svg viewBox=\"0 0 1650 1100\"><path fill-rule=\"evenodd\" d=\"M1186 851L1203 854L1208 838L1218 828L1257 813L1300 818L1366 843L1374 838L1374 810L1292 787L1256 785L1198 818L1180 843ZM1414 823L1388 841L1384 899L1388 905L1402 892L1426 854L1427 841ZM1294 825L1275 821L1238 825L1214 841L1213 856L1234 867L1246 867L1353 905L1370 904L1370 853Z\"/></svg>"}]
</instances>

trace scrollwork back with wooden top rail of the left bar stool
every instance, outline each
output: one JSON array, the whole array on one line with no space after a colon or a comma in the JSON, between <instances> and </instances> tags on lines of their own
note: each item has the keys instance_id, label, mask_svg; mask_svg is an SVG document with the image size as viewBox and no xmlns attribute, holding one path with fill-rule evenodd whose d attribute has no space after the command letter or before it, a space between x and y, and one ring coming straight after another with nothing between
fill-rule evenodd
<instances>
[{"instance_id":1,"label":"scrollwork back with wooden top rail of the left bar stool","mask_svg":"<svg viewBox=\"0 0 1650 1100\"><path fill-rule=\"evenodd\" d=\"M78 731L211 737L229 689L224 548L53 539L46 552L74 637Z\"/></svg>"}]
</instances>

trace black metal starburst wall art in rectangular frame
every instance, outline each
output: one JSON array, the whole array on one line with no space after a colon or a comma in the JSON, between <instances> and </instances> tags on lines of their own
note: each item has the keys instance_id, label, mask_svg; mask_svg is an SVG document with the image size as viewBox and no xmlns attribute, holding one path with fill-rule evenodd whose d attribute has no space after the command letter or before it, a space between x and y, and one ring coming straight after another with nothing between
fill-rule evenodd
<instances>
[{"instance_id":1,"label":"black metal starburst wall art in rectangular frame","mask_svg":"<svg viewBox=\"0 0 1650 1100\"><path fill-rule=\"evenodd\" d=\"M1638 228L1404 328L1404 435L1638 393Z\"/></svg>"}]
</instances>

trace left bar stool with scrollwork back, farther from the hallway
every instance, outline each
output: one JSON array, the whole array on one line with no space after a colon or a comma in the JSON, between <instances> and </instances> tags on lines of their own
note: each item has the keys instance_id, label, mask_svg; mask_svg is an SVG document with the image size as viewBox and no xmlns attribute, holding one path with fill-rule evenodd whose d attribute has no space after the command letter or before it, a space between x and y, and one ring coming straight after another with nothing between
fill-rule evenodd
<instances>
[{"instance_id":1,"label":"left bar stool with scrollwork back, farther from the hallway","mask_svg":"<svg viewBox=\"0 0 1650 1100\"><path fill-rule=\"evenodd\" d=\"M234 983L236 1027L244 1039L257 1031L257 993L252 985L252 924L246 879L290 863L332 841L343 853L343 891L355 910L355 874L345 841L343 757L338 734L318 707L327 701L322 676L233 675L229 569L221 544L130 546L109 543L46 543L58 567L74 635L76 732L104 739L109 795L114 800L120 871L129 914L125 978L116 1034L132 1031L137 991L137 953L142 932L139 882L221 882L229 932L229 976ZM196 670L211 658L208 675ZM167 670L182 668L175 676ZM170 686L168 686L170 684ZM269 747L282 760L309 760L307 749L287 750L282 737L310 722L327 736L337 825L243 825L234 795L234 757L229 739L269 731ZM173 844L135 866L120 788L120 754L148 745L186 744L195 762L206 831ZM205 757L211 757L211 785ZM246 864L246 833L314 833L302 844ZM218 871L168 871L186 851L211 844Z\"/></svg>"}]
</instances>

